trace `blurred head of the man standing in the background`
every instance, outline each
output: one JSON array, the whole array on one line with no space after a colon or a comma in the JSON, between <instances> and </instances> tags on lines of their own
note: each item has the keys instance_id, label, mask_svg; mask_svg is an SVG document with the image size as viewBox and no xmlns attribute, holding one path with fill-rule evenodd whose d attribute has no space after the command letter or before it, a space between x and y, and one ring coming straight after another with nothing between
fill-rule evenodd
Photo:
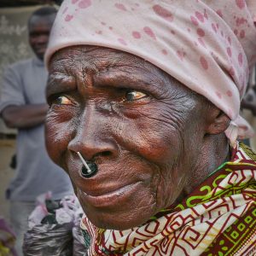
<instances>
[{"instance_id":1,"label":"blurred head of the man standing in the background","mask_svg":"<svg viewBox=\"0 0 256 256\"><path fill-rule=\"evenodd\" d=\"M33 12L28 20L29 44L40 60L44 59L44 52L49 40L49 32L55 20L56 13L57 10L54 7L43 7Z\"/></svg>"}]
</instances>

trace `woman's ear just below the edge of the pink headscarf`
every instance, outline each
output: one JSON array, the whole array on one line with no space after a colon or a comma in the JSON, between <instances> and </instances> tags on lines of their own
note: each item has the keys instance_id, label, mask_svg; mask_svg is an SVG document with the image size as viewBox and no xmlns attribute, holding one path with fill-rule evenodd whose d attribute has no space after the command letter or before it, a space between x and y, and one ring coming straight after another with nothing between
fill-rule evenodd
<instances>
[{"instance_id":1,"label":"woman's ear just below the edge of the pink headscarf","mask_svg":"<svg viewBox=\"0 0 256 256\"><path fill-rule=\"evenodd\" d=\"M230 125L230 118L217 107L212 106L212 109L207 115L206 134L213 135L224 132Z\"/></svg>"}]
</instances>

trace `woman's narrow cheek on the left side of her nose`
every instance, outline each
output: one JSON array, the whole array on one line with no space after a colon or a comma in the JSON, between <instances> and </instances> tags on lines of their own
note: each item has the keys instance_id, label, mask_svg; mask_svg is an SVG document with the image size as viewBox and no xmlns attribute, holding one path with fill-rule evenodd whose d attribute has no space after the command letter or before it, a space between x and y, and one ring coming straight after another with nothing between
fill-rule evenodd
<instances>
[{"instance_id":1,"label":"woman's narrow cheek on the left side of her nose","mask_svg":"<svg viewBox=\"0 0 256 256\"><path fill-rule=\"evenodd\" d=\"M72 117L70 113L65 114L50 109L45 120L46 148L49 157L59 166L75 131Z\"/></svg>"}]
</instances>

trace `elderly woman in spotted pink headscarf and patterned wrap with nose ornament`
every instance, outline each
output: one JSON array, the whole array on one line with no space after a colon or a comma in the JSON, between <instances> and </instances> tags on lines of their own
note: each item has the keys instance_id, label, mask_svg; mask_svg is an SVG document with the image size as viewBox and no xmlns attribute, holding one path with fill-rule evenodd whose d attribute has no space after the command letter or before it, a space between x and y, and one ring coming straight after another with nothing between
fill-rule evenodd
<instances>
[{"instance_id":1,"label":"elderly woman in spotted pink headscarf and patterned wrap with nose ornament","mask_svg":"<svg viewBox=\"0 0 256 256\"><path fill-rule=\"evenodd\" d=\"M236 138L256 31L244 0L67 0L46 134L90 255L253 253L256 155Z\"/></svg>"}]
</instances>

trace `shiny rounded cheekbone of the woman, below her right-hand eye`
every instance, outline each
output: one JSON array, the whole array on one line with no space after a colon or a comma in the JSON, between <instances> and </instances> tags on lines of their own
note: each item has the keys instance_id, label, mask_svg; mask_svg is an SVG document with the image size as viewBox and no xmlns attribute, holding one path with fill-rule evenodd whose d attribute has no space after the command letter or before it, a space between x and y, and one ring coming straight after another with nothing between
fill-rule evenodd
<instances>
[{"instance_id":1,"label":"shiny rounded cheekbone of the woman, below her right-hand eye","mask_svg":"<svg viewBox=\"0 0 256 256\"><path fill-rule=\"evenodd\" d=\"M136 119L126 119L122 125L125 148L154 162L157 166L172 166L183 148L183 120L172 111L154 108L137 110Z\"/></svg>"}]
</instances>

